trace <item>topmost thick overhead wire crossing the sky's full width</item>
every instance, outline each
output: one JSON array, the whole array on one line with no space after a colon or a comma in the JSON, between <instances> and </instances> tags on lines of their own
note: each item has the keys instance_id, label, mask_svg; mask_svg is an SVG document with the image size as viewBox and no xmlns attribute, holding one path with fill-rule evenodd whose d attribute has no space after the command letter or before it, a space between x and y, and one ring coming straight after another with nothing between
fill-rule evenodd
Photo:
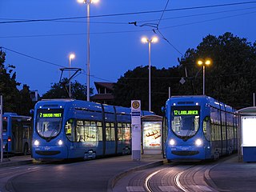
<instances>
[{"instance_id":1,"label":"topmost thick overhead wire crossing the sky's full width","mask_svg":"<svg viewBox=\"0 0 256 192\"><path fill-rule=\"evenodd\" d=\"M256 1L253 1L253 2L236 2L236 3L228 3L228 4L218 4L218 5L212 5L212 6L194 6L194 7L176 8L176 9L171 9L171 10L165 10L165 12L178 11L178 10L196 10L196 9L205 9L205 8L222 7L222 6L238 6L238 5L245 5L245 4L252 4L252 3L256 3ZM121 13L121 14L91 15L90 18L125 16L125 15L131 15L131 14L154 14L154 13L159 13L159 12L162 12L162 10L149 10L149 11L140 11L140 12ZM70 17L70 18L27 19L27 20L0 22L0 24L21 23L21 22L53 22L53 21L80 19L80 18L87 18L87 16Z\"/></svg>"}]
</instances>

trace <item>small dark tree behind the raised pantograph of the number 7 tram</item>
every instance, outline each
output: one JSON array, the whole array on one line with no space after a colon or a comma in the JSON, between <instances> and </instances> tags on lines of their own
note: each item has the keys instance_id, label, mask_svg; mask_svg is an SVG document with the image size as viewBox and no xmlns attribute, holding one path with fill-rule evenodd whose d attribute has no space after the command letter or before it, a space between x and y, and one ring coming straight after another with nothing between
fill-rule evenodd
<instances>
[{"instance_id":1,"label":"small dark tree behind the raised pantograph of the number 7 tram","mask_svg":"<svg viewBox=\"0 0 256 192\"><path fill-rule=\"evenodd\" d=\"M68 93L66 92L65 85L63 82L66 82L67 78L63 78L62 82L54 83L51 86L51 89L42 95L42 98L69 98ZM81 83L75 81L71 82L71 97L86 100L87 87ZM90 95L93 94L93 88L90 88Z\"/></svg>"}]
</instances>

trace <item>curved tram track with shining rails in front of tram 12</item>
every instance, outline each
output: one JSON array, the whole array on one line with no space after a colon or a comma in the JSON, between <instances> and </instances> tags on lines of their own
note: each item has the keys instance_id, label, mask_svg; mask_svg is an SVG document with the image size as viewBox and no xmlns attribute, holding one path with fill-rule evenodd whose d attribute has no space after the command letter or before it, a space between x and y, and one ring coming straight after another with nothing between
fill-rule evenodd
<instances>
[{"instance_id":1,"label":"curved tram track with shining rails in front of tram 12","mask_svg":"<svg viewBox=\"0 0 256 192\"><path fill-rule=\"evenodd\" d=\"M205 177L206 172L209 172L213 166L215 164L173 163L164 165L158 170L153 168L139 171L130 176L126 191L217 191L206 182Z\"/></svg>"}]
</instances>

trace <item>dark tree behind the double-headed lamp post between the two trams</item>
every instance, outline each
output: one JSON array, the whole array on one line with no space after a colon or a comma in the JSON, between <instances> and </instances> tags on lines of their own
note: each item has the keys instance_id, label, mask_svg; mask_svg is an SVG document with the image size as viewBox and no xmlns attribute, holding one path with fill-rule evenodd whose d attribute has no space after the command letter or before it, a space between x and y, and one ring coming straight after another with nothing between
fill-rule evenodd
<instances>
[{"instance_id":1,"label":"dark tree behind the double-headed lamp post between the two trams","mask_svg":"<svg viewBox=\"0 0 256 192\"><path fill-rule=\"evenodd\" d=\"M178 77L177 77L178 76ZM151 110L161 114L161 106L165 105L168 98L168 90L180 80L178 67L169 70L158 70L151 66ZM114 85L114 105L130 106L131 100L141 100L142 110L148 110L149 106L149 70L148 66L138 66L134 70L128 70Z\"/></svg>"}]
</instances>

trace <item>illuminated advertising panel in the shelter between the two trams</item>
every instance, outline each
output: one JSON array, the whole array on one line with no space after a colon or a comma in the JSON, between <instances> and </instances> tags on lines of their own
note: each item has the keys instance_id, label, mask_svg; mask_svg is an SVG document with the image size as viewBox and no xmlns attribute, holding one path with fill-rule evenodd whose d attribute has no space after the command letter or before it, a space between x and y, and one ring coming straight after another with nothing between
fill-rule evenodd
<instances>
[{"instance_id":1,"label":"illuminated advertising panel in the shelter between the two trams","mask_svg":"<svg viewBox=\"0 0 256 192\"><path fill-rule=\"evenodd\" d=\"M162 122L142 122L143 150L162 150Z\"/></svg>"}]
</instances>

